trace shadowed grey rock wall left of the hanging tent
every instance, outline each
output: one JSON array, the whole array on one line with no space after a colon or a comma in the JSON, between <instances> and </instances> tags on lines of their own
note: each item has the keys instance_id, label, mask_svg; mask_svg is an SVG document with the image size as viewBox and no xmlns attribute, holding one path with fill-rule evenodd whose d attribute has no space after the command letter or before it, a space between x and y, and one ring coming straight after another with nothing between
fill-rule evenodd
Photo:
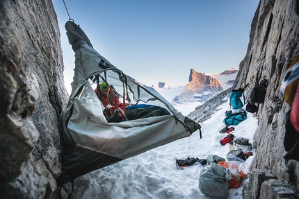
<instances>
[{"instance_id":1,"label":"shadowed grey rock wall left of the hanging tent","mask_svg":"<svg viewBox=\"0 0 299 199\"><path fill-rule=\"evenodd\" d=\"M51 0L0 1L0 198L56 198L67 92Z\"/></svg>"}]
</instances>

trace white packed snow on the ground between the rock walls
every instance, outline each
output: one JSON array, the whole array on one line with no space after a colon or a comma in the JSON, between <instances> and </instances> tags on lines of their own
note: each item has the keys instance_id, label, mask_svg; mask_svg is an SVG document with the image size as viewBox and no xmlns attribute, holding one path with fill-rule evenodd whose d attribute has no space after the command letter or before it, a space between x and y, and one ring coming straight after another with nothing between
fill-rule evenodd
<instances>
[{"instance_id":1,"label":"white packed snow on the ground between the rock walls","mask_svg":"<svg viewBox=\"0 0 299 199\"><path fill-rule=\"evenodd\" d=\"M175 95L170 91L168 94L169 96L164 93L164 97L171 98ZM195 106L197 105L193 105L193 110ZM185 109L176 108L181 112ZM229 101L220 105L209 120L200 123L202 139L197 130L190 137L172 141L77 178L74 180L72 198L207 198L198 186L203 166L197 164L181 170L177 169L175 159L207 159L210 154L226 158L229 144L221 146L219 141L227 134L220 134L219 131L225 127L223 119L227 110L230 110ZM247 137L252 143L256 129L257 119L248 113L248 118L235 126L232 133L236 137ZM255 154L254 149L252 153ZM245 173L250 173L253 160L254 155L245 161ZM241 187L229 189L227 198L242 198L243 184L248 178L249 176L243 180Z\"/></svg>"}]
</instances>

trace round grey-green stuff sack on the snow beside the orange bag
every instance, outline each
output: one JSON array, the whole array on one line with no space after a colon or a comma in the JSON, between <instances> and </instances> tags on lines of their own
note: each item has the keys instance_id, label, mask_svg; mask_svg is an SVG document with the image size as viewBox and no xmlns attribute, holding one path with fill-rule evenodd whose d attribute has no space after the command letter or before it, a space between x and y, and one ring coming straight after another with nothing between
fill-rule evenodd
<instances>
[{"instance_id":1,"label":"round grey-green stuff sack on the snow beside the orange bag","mask_svg":"<svg viewBox=\"0 0 299 199\"><path fill-rule=\"evenodd\" d=\"M211 163L202 168L198 185L204 196L224 199L228 196L229 180L232 180L229 169L223 168L220 164Z\"/></svg>"}]
</instances>

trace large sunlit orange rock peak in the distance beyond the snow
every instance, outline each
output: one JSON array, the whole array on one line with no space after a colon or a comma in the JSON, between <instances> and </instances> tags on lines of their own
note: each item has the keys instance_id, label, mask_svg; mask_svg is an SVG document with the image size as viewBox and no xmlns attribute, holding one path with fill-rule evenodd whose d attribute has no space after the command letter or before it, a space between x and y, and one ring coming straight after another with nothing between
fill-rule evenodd
<instances>
[{"instance_id":1,"label":"large sunlit orange rock peak in the distance beyond the snow","mask_svg":"<svg viewBox=\"0 0 299 199\"><path fill-rule=\"evenodd\" d=\"M197 73L194 69L191 69L189 75L189 83L186 85L188 92L202 93L205 91L221 92L223 87L218 80L212 76L207 76L204 73Z\"/></svg>"}]
</instances>

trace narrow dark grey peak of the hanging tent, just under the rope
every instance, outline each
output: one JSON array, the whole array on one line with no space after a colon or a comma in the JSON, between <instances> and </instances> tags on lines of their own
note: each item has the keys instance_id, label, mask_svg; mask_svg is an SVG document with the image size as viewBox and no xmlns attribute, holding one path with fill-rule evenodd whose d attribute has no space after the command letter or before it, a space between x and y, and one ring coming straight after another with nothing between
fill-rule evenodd
<instances>
[{"instance_id":1,"label":"narrow dark grey peak of the hanging tent, just under the rope","mask_svg":"<svg viewBox=\"0 0 299 199\"><path fill-rule=\"evenodd\" d=\"M74 21L67 21L65 23L65 29L67 30L67 37L69 38L69 43L72 45L74 52L76 52L76 49L78 49L81 44L88 44L92 47L87 35Z\"/></svg>"}]
</instances>

